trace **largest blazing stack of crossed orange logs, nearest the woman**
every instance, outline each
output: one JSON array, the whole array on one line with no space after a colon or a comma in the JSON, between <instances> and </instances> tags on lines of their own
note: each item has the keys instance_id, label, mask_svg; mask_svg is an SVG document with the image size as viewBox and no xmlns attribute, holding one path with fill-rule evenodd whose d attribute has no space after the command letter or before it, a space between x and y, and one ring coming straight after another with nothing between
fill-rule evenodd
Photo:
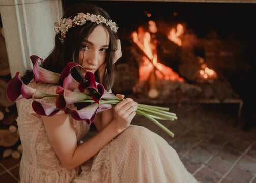
<instances>
[{"instance_id":1,"label":"largest blazing stack of crossed orange logs, nearest the woman","mask_svg":"<svg viewBox=\"0 0 256 183\"><path fill-rule=\"evenodd\" d=\"M155 33L155 32L154 32ZM153 38L151 37L153 35ZM159 80L180 80L179 75L173 70L161 63L158 63L157 55L157 40L155 34L150 34L139 27L138 32L132 33L134 46L141 53L141 60L139 67L139 83L146 83L147 92L145 93L149 98L157 98L159 96L158 82ZM159 79L159 80L158 80ZM136 92L141 92L144 88L136 84L133 87Z\"/></svg>"}]
</instances>

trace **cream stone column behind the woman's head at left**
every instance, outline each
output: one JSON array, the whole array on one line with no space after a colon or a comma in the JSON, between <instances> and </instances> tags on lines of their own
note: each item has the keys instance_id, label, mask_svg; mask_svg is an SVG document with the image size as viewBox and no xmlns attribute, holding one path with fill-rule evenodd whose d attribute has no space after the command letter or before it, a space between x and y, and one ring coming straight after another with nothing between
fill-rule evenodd
<instances>
[{"instance_id":1,"label":"cream stone column behind the woman's head at left","mask_svg":"<svg viewBox=\"0 0 256 183\"><path fill-rule=\"evenodd\" d=\"M54 22L63 13L61 0L1 0L11 76L32 69L31 55L45 58L54 46Z\"/></svg>"}]
</instances>

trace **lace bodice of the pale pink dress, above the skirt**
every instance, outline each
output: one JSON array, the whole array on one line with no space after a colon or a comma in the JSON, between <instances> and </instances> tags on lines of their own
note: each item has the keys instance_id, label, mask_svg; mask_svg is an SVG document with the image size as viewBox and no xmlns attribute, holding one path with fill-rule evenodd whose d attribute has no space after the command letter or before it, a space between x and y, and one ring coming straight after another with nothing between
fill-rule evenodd
<instances>
[{"instance_id":1,"label":"lace bodice of the pale pink dress, above the skirt","mask_svg":"<svg viewBox=\"0 0 256 183\"><path fill-rule=\"evenodd\" d=\"M51 84L31 82L29 86L48 94L55 94L56 91L56 85ZM47 104L55 103L55 98L52 97L39 100ZM20 99L17 102L17 123L23 148L20 182L70 182L78 169L67 170L63 167L49 143L42 119L33 115L35 112L32 101L33 99ZM74 120L71 116L70 121L79 142L90 126L83 121Z\"/></svg>"}]
</instances>

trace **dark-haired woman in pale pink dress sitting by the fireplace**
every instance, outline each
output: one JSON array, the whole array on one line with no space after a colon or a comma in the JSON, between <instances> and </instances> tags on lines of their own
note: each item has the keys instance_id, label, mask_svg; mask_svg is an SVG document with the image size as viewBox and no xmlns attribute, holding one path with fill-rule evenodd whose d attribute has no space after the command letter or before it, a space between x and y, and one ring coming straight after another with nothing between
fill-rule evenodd
<instances>
[{"instance_id":1,"label":"dark-haired woman in pale pink dress sitting by the fireplace","mask_svg":"<svg viewBox=\"0 0 256 183\"><path fill-rule=\"evenodd\" d=\"M55 23L55 47L42 66L61 73L68 62L78 63L83 69L72 73L77 81L90 71L111 92L114 63L122 55L117 29L105 10L76 4ZM56 85L36 83L31 72L23 80L55 94ZM64 112L40 116L31 107L32 99L21 99L17 119L23 147L20 182L197 182L163 138L130 125L137 102L117 96L123 100L97 113L93 123L98 133L82 143L90 125ZM55 103L52 98L41 101Z\"/></svg>"}]
</instances>

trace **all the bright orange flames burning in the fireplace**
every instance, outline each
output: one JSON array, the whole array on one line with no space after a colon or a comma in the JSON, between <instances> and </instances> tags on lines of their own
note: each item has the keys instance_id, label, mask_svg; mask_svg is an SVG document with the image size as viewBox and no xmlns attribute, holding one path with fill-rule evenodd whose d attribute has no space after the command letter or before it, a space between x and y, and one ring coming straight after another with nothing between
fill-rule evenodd
<instances>
[{"instance_id":1,"label":"all the bright orange flames burning in the fireplace","mask_svg":"<svg viewBox=\"0 0 256 183\"><path fill-rule=\"evenodd\" d=\"M142 57L142 64L139 67L139 80L148 81L150 85L149 97L155 98L158 95L156 86L156 80L172 80L184 82L184 79L179 76L178 73L172 70L172 68L167 67L158 62L157 58L157 38L155 33L158 29L154 21L148 22L148 30L140 26L138 31L134 31L131 34L133 42L138 46L140 51L144 53ZM184 33L184 27L182 24L178 23L176 28L172 28L167 35L167 38L178 46L182 46L181 36ZM217 76L216 72L209 69L204 62L204 58L198 57L198 62L200 63L200 70L198 71L198 77L202 79L215 78ZM150 93L154 90L153 94Z\"/></svg>"}]
</instances>

